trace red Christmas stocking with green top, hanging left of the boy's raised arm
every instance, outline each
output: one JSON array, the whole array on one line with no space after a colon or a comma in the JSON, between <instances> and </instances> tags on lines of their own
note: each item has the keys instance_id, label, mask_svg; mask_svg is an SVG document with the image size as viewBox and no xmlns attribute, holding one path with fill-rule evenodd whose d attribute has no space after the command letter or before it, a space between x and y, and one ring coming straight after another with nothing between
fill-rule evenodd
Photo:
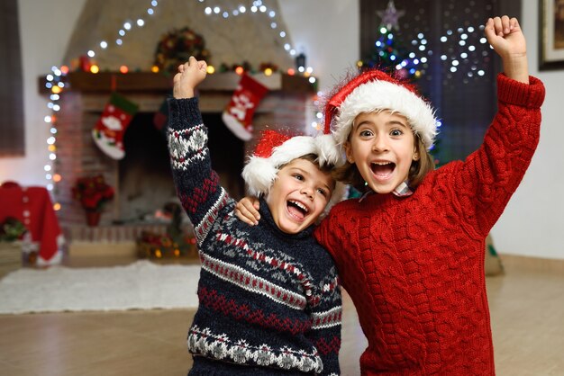
<instances>
[{"instance_id":1,"label":"red Christmas stocking with green top, hanging left of the boy's raised arm","mask_svg":"<svg viewBox=\"0 0 564 376\"><path fill-rule=\"evenodd\" d=\"M98 148L114 159L125 157L123 133L137 110L137 104L128 101L120 94L113 93L110 102L105 105L102 117L92 130L92 138Z\"/></svg>"}]
</instances>

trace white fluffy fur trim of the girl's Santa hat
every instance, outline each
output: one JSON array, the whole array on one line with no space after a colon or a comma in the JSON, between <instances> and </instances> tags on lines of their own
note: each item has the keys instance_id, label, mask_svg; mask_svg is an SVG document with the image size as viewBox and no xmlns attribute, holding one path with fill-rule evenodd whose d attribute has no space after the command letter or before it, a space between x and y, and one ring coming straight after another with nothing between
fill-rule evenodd
<instances>
[{"instance_id":1,"label":"white fluffy fur trim of the girl's Santa hat","mask_svg":"<svg viewBox=\"0 0 564 376\"><path fill-rule=\"evenodd\" d=\"M332 127L337 143L342 145L347 140L352 121L359 113L378 110L404 115L425 148L432 147L437 135L437 120L431 105L405 86L384 80L359 85L342 101Z\"/></svg>"}]
</instances>

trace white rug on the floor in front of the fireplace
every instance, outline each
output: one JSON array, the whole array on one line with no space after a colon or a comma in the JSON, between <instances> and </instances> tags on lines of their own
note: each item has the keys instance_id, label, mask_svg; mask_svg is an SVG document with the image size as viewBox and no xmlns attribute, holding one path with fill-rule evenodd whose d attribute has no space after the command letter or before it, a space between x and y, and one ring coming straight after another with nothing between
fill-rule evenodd
<instances>
[{"instance_id":1,"label":"white rug on the floor in front of the fireplace","mask_svg":"<svg viewBox=\"0 0 564 376\"><path fill-rule=\"evenodd\" d=\"M103 268L20 269L0 280L0 313L197 307L199 265L147 260Z\"/></svg>"}]
</instances>

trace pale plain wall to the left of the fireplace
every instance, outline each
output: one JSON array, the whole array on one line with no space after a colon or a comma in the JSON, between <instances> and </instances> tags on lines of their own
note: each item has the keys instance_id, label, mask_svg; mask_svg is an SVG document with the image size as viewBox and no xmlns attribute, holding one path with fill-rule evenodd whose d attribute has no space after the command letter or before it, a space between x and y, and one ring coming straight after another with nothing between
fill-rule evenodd
<instances>
[{"instance_id":1,"label":"pale plain wall to the left of the fireplace","mask_svg":"<svg viewBox=\"0 0 564 376\"><path fill-rule=\"evenodd\" d=\"M85 0L20 0L20 35L23 60L23 111L25 157L0 158L0 182L15 180L25 185L45 185L43 166L49 162L46 140L50 114L47 101L38 94L37 78L53 65L59 66Z\"/></svg>"}]
</instances>

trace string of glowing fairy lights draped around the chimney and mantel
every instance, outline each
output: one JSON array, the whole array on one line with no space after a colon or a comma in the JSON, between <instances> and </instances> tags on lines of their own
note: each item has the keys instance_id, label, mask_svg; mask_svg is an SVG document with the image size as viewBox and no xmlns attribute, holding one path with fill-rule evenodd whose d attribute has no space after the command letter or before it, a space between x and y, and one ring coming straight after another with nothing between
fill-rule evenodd
<instances>
[{"instance_id":1,"label":"string of glowing fairy lights draped around the chimney and mantel","mask_svg":"<svg viewBox=\"0 0 564 376\"><path fill-rule=\"evenodd\" d=\"M210 2L206 0L196 0L196 1L197 3L205 5L203 9L203 13L209 17L217 16L223 19L228 19L230 17L243 16L248 13L264 14L270 19L269 25L272 31L277 32L277 36L280 38L280 40L283 41L284 49L291 57L293 58L296 57L297 51L292 46L292 44L288 41L287 31L283 30L279 26L278 22L276 22L277 13L274 10L270 9L268 5L265 4L262 0L253 1L249 7L244 5L238 5L234 9L229 9L229 10L222 8L219 5L207 5ZM158 6L159 6L158 0L151 0L150 6L146 10L144 10L141 15L139 15L138 17L130 17L129 19L123 22L119 30L116 31L115 40L111 40L111 41L100 40L98 43L96 43L96 47L92 49L88 49L85 52L85 58L86 56L88 59L96 58L96 56L98 56L99 54L104 53L105 49L108 49L108 47L110 47L112 43L114 43L114 45L118 47L122 46L124 43L124 37L128 33L135 31L136 28L142 28L145 25L146 17L154 17L159 14L159 12L157 12ZM81 61L80 63L83 62L84 61ZM83 65L83 67L85 66ZM96 63L92 63L87 65L87 70L90 73L96 74L100 71L100 67L98 67ZM121 73L126 74L129 72L129 67L123 65L119 67L119 70ZM154 73L157 73L159 72L159 67L153 66L150 67L150 70ZM241 75L243 73L243 70L244 70L243 67L236 67L235 72ZM47 189L49 191L53 191L53 189L55 188L55 184L59 183L63 179L63 177L60 174L54 173L52 164L55 163L57 159L57 121L58 121L58 112L60 111L59 100L61 94L64 92L64 90L68 88L63 78L67 76L69 71L70 71L70 67L68 67L67 65L63 65L60 67L53 66L50 68L50 73L45 76L45 81L46 81L45 87L50 91L50 97L49 97L50 101L47 104L47 107L50 110L50 114L44 117L44 121L50 126L50 136L47 139L47 145L49 150L49 162L45 164L43 169L45 171L45 179L48 181ZM215 67L210 65L208 67L208 73L214 74L214 72L215 72ZM262 73L264 73L266 76L270 76L272 75L273 70L271 67L266 67ZM315 84L316 77L314 76L314 69L312 67L299 66L297 67L297 72L293 67L287 69L288 75L293 76L298 73L301 74L302 76L307 77L308 81L312 85ZM314 124L312 125L314 127L319 127L319 125L316 122L314 122ZM60 210L59 202L55 202L53 206L55 210Z\"/></svg>"}]
</instances>

